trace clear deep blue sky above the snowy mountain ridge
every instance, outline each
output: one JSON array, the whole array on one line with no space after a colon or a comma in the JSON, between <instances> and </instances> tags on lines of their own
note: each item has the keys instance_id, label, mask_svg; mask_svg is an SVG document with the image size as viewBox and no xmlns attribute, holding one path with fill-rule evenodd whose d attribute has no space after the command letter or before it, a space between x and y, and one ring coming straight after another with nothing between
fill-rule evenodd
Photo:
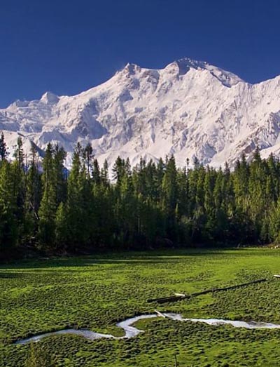
<instances>
[{"instance_id":1,"label":"clear deep blue sky above the snowy mountain ridge","mask_svg":"<svg viewBox=\"0 0 280 367\"><path fill-rule=\"evenodd\" d=\"M189 57L246 81L280 74L278 0L0 1L0 107L76 94L127 62Z\"/></svg>"}]
</instances>

